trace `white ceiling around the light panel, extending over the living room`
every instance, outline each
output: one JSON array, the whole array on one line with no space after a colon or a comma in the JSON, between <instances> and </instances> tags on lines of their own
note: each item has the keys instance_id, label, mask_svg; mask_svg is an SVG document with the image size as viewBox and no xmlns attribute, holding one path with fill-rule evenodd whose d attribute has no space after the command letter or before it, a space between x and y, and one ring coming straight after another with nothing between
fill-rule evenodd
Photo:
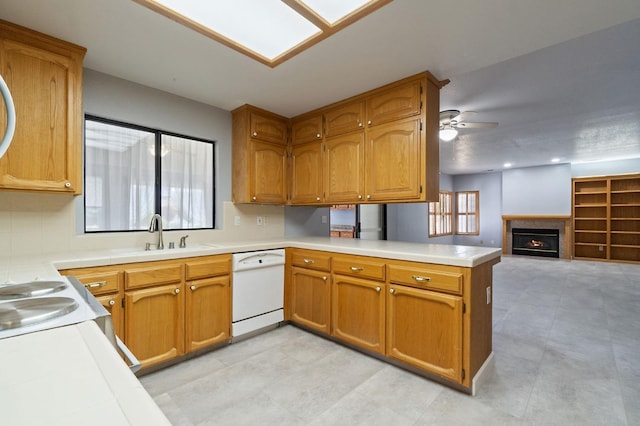
<instances>
[{"instance_id":1,"label":"white ceiling around the light panel, extending over the living room","mask_svg":"<svg viewBox=\"0 0 640 426\"><path fill-rule=\"evenodd\" d=\"M500 122L441 143L443 173L640 157L638 0L395 0L274 69L132 0L0 0L0 18L226 110L290 117L429 70L451 80L441 110Z\"/></svg>"}]
</instances>

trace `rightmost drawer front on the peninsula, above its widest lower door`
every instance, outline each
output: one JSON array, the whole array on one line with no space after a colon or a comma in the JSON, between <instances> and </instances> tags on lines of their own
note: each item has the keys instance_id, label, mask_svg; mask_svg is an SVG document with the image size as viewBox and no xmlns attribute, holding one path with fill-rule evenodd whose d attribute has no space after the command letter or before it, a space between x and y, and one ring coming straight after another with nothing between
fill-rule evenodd
<instances>
[{"instance_id":1,"label":"rightmost drawer front on the peninsula, above its widest lower door","mask_svg":"<svg viewBox=\"0 0 640 426\"><path fill-rule=\"evenodd\" d=\"M462 294L462 273L429 268L389 265L389 281L412 287Z\"/></svg>"}]
</instances>

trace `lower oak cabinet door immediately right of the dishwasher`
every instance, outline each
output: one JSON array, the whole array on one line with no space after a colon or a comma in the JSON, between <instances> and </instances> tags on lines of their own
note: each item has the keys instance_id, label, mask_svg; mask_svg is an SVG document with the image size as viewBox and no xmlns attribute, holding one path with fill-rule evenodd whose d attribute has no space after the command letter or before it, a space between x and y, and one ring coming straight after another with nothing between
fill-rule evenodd
<instances>
[{"instance_id":1,"label":"lower oak cabinet door immediately right of the dishwasher","mask_svg":"<svg viewBox=\"0 0 640 426\"><path fill-rule=\"evenodd\" d=\"M330 297L327 273L291 268L291 321L329 334Z\"/></svg>"}]
</instances>

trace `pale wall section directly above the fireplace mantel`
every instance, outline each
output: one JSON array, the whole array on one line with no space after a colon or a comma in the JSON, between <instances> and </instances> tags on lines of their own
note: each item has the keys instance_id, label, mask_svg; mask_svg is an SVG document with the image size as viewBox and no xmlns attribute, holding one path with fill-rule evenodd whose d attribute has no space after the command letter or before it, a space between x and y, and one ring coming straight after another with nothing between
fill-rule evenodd
<instances>
[{"instance_id":1,"label":"pale wall section directly above the fireplace mantel","mask_svg":"<svg viewBox=\"0 0 640 426\"><path fill-rule=\"evenodd\" d=\"M503 171L502 214L570 215L571 165Z\"/></svg>"}]
</instances>

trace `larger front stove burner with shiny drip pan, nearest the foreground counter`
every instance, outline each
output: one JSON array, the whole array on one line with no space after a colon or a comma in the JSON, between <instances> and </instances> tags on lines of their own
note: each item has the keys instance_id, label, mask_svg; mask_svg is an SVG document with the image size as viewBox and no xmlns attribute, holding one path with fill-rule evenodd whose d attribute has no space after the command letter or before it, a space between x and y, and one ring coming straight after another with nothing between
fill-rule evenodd
<instances>
[{"instance_id":1,"label":"larger front stove burner with shiny drip pan, nearest the foreground counter","mask_svg":"<svg viewBox=\"0 0 640 426\"><path fill-rule=\"evenodd\" d=\"M0 303L0 330L45 322L78 308L70 297L40 297Z\"/></svg>"}]
</instances>

